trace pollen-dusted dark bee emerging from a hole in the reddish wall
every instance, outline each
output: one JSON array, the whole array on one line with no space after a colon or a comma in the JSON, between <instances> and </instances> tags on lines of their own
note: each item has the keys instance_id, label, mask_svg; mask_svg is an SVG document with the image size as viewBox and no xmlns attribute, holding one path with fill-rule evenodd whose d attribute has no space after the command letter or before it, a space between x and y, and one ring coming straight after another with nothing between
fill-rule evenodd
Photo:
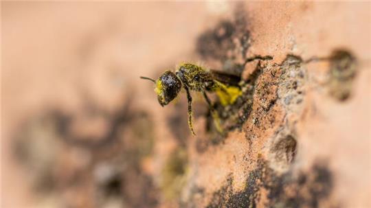
<instances>
[{"instance_id":1,"label":"pollen-dusted dark bee emerging from a hole in the reddish wall","mask_svg":"<svg viewBox=\"0 0 371 208\"><path fill-rule=\"evenodd\" d=\"M214 109L207 93L216 93L223 106L234 104L242 94L240 76L234 76L221 71L207 70L199 65L183 63L177 67L175 72L165 71L157 80L141 76L140 78L155 83L155 93L161 106L166 106L177 97L181 89L184 89L188 100L188 126L192 135L196 135L192 125L192 96L190 91L203 94L211 115L214 118L216 129L223 132L218 119L218 113Z\"/></svg>"}]
</instances>

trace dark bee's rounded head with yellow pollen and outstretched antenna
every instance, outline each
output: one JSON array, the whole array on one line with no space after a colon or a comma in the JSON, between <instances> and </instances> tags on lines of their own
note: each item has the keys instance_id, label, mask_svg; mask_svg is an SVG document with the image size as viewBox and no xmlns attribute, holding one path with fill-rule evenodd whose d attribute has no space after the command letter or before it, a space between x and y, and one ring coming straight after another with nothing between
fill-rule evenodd
<instances>
[{"instance_id":1,"label":"dark bee's rounded head with yellow pollen and outstretched antenna","mask_svg":"<svg viewBox=\"0 0 371 208\"><path fill-rule=\"evenodd\" d=\"M172 71L165 71L157 80L144 77L141 78L155 82L155 92L161 106L166 106L169 102L174 100L182 86L181 80Z\"/></svg>"}]
</instances>

